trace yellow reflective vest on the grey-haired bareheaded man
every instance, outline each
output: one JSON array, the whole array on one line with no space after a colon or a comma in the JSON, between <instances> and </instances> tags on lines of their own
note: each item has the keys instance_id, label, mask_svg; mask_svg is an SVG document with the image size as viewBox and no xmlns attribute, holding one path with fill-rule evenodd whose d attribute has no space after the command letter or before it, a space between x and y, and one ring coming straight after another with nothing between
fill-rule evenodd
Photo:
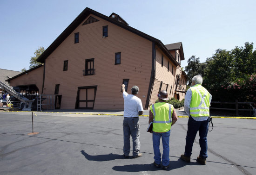
<instances>
[{"instance_id":1,"label":"yellow reflective vest on the grey-haired bareheaded man","mask_svg":"<svg viewBox=\"0 0 256 175\"><path fill-rule=\"evenodd\" d=\"M192 92L190 102L190 115L192 117L210 116L210 93L200 84L197 84L190 89Z\"/></svg>"}]
</instances>

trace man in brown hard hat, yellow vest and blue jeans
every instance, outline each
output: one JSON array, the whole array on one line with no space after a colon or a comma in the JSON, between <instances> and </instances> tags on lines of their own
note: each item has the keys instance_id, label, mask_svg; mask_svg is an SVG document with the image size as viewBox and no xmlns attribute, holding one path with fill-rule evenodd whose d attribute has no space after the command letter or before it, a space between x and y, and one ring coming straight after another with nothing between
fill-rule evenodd
<instances>
[{"instance_id":1,"label":"man in brown hard hat, yellow vest and blue jeans","mask_svg":"<svg viewBox=\"0 0 256 175\"><path fill-rule=\"evenodd\" d=\"M157 168L161 167L161 153L159 150L160 138L162 137L162 169L168 169L169 167L169 138L171 132L171 126L177 121L177 114L174 107L171 104L166 103L169 100L168 93L164 90L157 94L159 102L150 106L149 120L153 122L152 128L152 140L154 148L154 165Z\"/></svg>"}]
</instances>

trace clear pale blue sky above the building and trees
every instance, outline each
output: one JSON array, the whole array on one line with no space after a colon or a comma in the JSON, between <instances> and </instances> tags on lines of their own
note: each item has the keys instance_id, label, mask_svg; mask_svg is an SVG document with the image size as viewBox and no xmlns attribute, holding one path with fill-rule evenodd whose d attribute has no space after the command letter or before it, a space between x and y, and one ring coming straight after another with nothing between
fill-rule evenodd
<instances>
[{"instance_id":1,"label":"clear pale blue sky above the building and trees","mask_svg":"<svg viewBox=\"0 0 256 175\"><path fill-rule=\"evenodd\" d=\"M182 42L185 60L204 62L215 50L256 45L256 0L0 0L0 69L20 71L86 8L119 14L162 41Z\"/></svg>"}]
</instances>

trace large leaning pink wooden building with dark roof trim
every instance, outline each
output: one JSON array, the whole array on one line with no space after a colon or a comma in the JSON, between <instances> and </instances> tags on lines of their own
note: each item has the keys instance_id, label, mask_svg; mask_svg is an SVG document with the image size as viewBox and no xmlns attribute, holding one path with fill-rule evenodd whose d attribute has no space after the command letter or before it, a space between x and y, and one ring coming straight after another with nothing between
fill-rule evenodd
<instances>
[{"instance_id":1,"label":"large leaning pink wooden building with dark roof trim","mask_svg":"<svg viewBox=\"0 0 256 175\"><path fill-rule=\"evenodd\" d=\"M159 90L184 98L182 60L182 43L164 45L115 13L105 16L86 8L38 58L43 66L7 81L55 94L61 109L123 109L121 84L128 93L136 85L148 109Z\"/></svg>"}]
</instances>

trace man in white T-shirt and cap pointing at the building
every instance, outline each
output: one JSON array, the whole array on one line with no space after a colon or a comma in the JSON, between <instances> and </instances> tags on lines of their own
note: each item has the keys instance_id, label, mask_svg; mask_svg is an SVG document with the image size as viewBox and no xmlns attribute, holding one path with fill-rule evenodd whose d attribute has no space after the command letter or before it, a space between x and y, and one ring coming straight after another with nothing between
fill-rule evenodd
<instances>
[{"instance_id":1,"label":"man in white T-shirt and cap pointing at the building","mask_svg":"<svg viewBox=\"0 0 256 175\"><path fill-rule=\"evenodd\" d=\"M130 136L133 140L133 158L141 157L140 152L140 122L139 115L143 114L141 99L136 97L139 93L139 87L133 86L131 94L125 91L125 85L121 85L121 92L124 99L124 119L123 119L123 153L124 157L128 158L130 153Z\"/></svg>"}]
</instances>

